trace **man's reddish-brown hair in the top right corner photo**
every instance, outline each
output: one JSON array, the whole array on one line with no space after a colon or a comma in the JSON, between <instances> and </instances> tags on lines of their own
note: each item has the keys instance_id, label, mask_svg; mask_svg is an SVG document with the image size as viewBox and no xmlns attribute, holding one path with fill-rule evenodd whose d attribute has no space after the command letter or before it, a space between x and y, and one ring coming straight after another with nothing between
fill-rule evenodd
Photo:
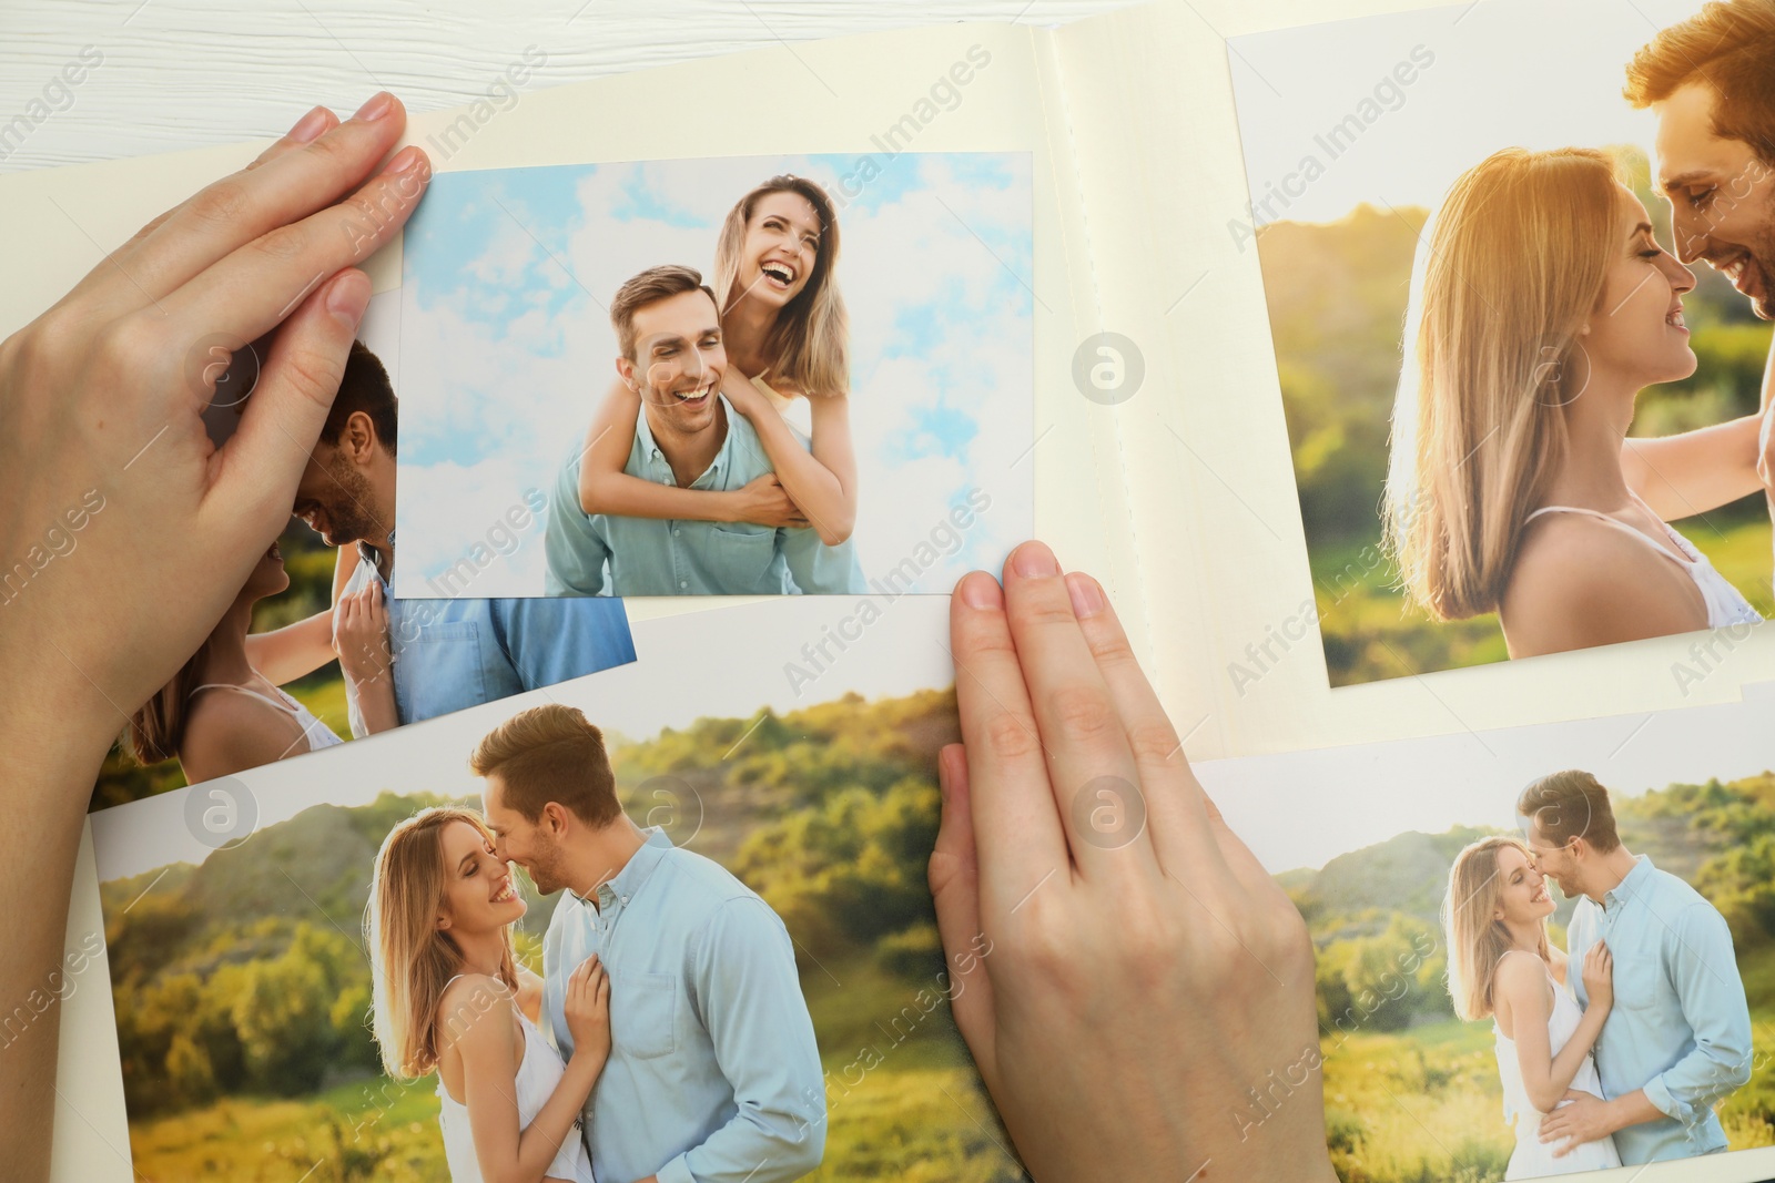
<instances>
[{"instance_id":1,"label":"man's reddish-brown hair in the top right corner photo","mask_svg":"<svg viewBox=\"0 0 1775 1183\"><path fill-rule=\"evenodd\" d=\"M1775 167L1775 0L1715 0L1670 25L1633 55L1626 96L1651 106L1692 82L1713 90L1713 133Z\"/></svg>"}]
</instances>

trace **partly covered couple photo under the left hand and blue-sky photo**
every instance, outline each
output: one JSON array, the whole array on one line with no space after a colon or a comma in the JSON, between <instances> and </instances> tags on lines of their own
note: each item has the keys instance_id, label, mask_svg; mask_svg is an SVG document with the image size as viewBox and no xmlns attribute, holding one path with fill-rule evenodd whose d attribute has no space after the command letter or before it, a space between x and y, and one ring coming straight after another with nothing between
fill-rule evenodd
<instances>
[{"instance_id":1,"label":"partly covered couple photo under the left hand and blue-sky photo","mask_svg":"<svg viewBox=\"0 0 1775 1183\"><path fill-rule=\"evenodd\" d=\"M204 644L122 727L92 809L231 777L401 724L634 662L623 605L394 599L398 294L371 303L296 486L289 529ZM213 351L220 447L270 341ZM89 509L92 509L89 505ZM103 513L103 498L98 509ZM531 523L497 523L517 539Z\"/></svg>"}]
</instances>

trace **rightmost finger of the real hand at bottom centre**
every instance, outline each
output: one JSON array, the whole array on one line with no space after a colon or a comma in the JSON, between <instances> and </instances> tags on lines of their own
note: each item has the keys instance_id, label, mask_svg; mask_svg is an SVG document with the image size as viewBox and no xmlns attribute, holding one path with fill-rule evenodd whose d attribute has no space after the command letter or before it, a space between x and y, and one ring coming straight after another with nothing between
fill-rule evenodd
<instances>
[{"instance_id":1,"label":"rightmost finger of the real hand at bottom centre","mask_svg":"<svg viewBox=\"0 0 1775 1183\"><path fill-rule=\"evenodd\" d=\"M1218 862L1219 848L1211 834L1202 786L1189 770L1184 743L1159 704L1159 695L1134 658L1109 598L1088 575L1074 573L1065 582L1085 644L1109 690L1115 713L1122 718L1127 747L1140 772L1138 796L1124 803L1124 825L1134 827L1143 818L1159 866L1173 873L1202 866L1203 858ZM1212 825L1227 828L1225 821Z\"/></svg>"}]
</instances>

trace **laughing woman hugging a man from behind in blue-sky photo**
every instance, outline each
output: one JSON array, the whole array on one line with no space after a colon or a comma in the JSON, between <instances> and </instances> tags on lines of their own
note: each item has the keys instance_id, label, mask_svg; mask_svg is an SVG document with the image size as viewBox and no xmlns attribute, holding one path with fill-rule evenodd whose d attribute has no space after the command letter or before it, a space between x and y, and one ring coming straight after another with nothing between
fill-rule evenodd
<instances>
[{"instance_id":1,"label":"laughing woman hugging a man from behind in blue-sky photo","mask_svg":"<svg viewBox=\"0 0 1775 1183\"><path fill-rule=\"evenodd\" d=\"M776 477L714 491L627 475L641 396L618 381L586 433L580 509L811 525L827 546L847 541L857 518L857 459L850 445L850 326L836 264L838 215L816 183L776 176L742 197L715 243L714 289L730 362L721 396L751 420ZM797 397L808 401L811 445L783 419Z\"/></svg>"}]
</instances>

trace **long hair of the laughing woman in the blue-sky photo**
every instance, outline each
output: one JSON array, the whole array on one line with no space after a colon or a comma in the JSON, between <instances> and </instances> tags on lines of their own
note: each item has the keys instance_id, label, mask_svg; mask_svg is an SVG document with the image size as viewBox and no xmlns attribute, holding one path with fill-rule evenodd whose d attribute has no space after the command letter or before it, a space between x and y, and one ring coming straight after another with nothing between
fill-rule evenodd
<instances>
[{"instance_id":1,"label":"long hair of the laughing woman in the blue-sky photo","mask_svg":"<svg viewBox=\"0 0 1775 1183\"><path fill-rule=\"evenodd\" d=\"M820 220L820 248L813 257L813 275L795 293L795 298L777 312L776 326L765 339L769 369L758 374L779 380L804 396L820 397L850 390L850 316L845 298L838 293L838 211L832 199L815 181L795 176L776 176L756 186L728 211L715 241L715 307L726 316L744 291L738 291L740 264L746 254L746 227L751 225L758 202L770 193L797 193L813 206Z\"/></svg>"}]
</instances>

